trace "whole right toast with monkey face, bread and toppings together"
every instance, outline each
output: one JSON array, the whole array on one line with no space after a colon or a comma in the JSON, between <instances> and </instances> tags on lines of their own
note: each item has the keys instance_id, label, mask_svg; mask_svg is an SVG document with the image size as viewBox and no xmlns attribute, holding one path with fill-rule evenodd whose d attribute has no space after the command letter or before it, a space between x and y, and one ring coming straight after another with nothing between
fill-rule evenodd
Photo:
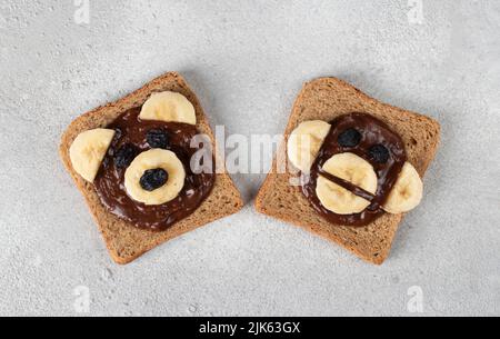
<instances>
[{"instance_id":1,"label":"whole right toast with monkey face, bread and toppings together","mask_svg":"<svg viewBox=\"0 0 500 339\"><path fill-rule=\"evenodd\" d=\"M422 198L439 123L320 78L303 86L284 139L257 210L381 265L404 213Z\"/></svg>"}]
</instances>

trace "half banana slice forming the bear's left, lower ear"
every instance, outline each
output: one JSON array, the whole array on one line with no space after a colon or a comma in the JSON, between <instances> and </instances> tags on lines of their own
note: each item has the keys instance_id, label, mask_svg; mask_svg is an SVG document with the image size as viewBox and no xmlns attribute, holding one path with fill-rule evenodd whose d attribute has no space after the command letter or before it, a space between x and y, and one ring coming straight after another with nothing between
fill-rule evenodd
<instances>
[{"instance_id":1,"label":"half banana slice forming the bear's left, lower ear","mask_svg":"<svg viewBox=\"0 0 500 339\"><path fill-rule=\"evenodd\" d=\"M87 181L93 182L96 179L114 133L109 129L86 131L71 144L70 159L73 169Z\"/></svg>"}]
</instances>

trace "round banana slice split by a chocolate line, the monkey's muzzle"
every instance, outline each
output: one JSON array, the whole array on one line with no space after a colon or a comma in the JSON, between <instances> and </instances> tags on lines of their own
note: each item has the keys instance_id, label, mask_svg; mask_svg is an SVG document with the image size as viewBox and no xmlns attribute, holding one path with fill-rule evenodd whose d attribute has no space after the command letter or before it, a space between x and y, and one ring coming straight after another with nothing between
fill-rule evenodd
<instances>
[{"instance_id":1,"label":"round banana slice split by a chocolate line, the monkey's muzzle","mask_svg":"<svg viewBox=\"0 0 500 339\"><path fill-rule=\"evenodd\" d=\"M378 179L373 167L357 154L336 154L324 163L323 170L370 193L377 192ZM370 206L370 201L351 193L323 177L318 178L316 193L328 210L341 216L360 213Z\"/></svg>"}]
</instances>

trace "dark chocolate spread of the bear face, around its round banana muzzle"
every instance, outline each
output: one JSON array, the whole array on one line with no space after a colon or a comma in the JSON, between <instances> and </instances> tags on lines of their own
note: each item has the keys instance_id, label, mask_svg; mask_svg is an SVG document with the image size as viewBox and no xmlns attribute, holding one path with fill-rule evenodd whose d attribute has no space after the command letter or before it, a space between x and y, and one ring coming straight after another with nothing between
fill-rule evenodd
<instances>
[{"instance_id":1,"label":"dark chocolate spread of the bear face, around its round banana muzzle","mask_svg":"<svg viewBox=\"0 0 500 339\"><path fill-rule=\"evenodd\" d=\"M162 231L194 212L210 195L216 175L193 173L191 170L191 157L199 150L191 148L191 139L199 133L194 126L141 120L139 119L140 110L134 108L124 112L108 127L114 129L117 134L102 162L94 186L102 203L111 213L138 228ZM124 188L124 173L130 163L123 163L127 162L123 159L129 158L130 161L141 152L150 150L148 133L151 141L151 131L153 139L158 139L154 134L158 131L163 131L168 136L168 143L163 148L174 152L186 170L184 186L179 196L159 206L146 206L134 201ZM119 152L122 153L120 159L117 158Z\"/></svg>"}]
</instances>

